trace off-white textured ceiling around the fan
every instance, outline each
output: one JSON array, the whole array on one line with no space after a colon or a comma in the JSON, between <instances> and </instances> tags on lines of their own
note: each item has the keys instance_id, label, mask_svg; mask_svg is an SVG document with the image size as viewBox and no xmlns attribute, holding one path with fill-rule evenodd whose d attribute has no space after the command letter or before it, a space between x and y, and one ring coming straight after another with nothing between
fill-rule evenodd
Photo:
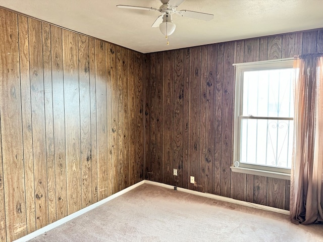
<instances>
[{"instance_id":1,"label":"off-white textured ceiling around the fan","mask_svg":"<svg viewBox=\"0 0 323 242\"><path fill-rule=\"evenodd\" d=\"M169 38L151 28L159 0L0 0L0 6L142 53L323 27L323 0L186 0L177 10L206 12L205 22L173 16Z\"/></svg>"}]
</instances>

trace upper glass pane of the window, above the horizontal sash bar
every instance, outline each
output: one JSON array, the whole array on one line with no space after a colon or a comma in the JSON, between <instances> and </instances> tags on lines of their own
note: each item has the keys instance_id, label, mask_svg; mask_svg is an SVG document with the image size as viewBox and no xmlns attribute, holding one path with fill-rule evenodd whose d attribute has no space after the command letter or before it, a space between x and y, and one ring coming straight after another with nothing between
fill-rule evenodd
<instances>
[{"instance_id":1,"label":"upper glass pane of the window, above the horizontal sash bar","mask_svg":"<svg viewBox=\"0 0 323 242\"><path fill-rule=\"evenodd\" d=\"M293 69L245 71L242 115L293 117Z\"/></svg>"}]
</instances>

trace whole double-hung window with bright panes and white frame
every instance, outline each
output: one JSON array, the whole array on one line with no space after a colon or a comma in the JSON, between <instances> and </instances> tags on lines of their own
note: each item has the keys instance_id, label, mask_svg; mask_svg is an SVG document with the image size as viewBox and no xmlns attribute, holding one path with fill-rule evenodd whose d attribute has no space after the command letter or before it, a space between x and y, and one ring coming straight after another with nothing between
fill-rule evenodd
<instances>
[{"instance_id":1,"label":"whole double-hung window with bright panes and white frame","mask_svg":"<svg viewBox=\"0 0 323 242\"><path fill-rule=\"evenodd\" d=\"M293 60L237 65L233 171L290 174L294 72Z\"/></svg>"}]
</instances>

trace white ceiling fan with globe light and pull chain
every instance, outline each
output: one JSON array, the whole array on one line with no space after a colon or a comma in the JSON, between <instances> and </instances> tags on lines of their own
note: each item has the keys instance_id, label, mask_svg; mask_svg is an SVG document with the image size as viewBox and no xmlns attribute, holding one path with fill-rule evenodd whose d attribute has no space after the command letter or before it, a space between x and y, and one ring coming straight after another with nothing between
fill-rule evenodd
<instances>
[{"instance_id":1,"label":"white ceiling fan with globe light and pull chain","mask_svg":"<svg viewBox=\"0 0 323 242\"><path fill-rule=\"evenodd\" d=\"M176 8L183 3L185 0L160 0L161 6L159 9L155 9L152 7L139 7L139 6L129 6L129 5L117 5L118 8L124 9L139 9L139 10L149 10L149 11L157 11L160 12L161 15L153 22L151 27L158 27L160 32L163 33L166 38L173 34L176 28L176 25L173 23L173 14L178 14L183 17L189 17L193 19L200 19L209 21L213 19L213 14L206 14L201 12L194 12L189 10L180 10L177 11ZM169 42L167 41L167 44Z\"/></svg>"}]
</instances>

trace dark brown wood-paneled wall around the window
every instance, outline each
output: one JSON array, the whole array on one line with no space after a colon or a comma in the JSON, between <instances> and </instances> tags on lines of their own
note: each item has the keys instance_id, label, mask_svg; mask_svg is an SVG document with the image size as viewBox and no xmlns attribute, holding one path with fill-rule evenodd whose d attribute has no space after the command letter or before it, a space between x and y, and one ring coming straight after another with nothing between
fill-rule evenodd
<instances>
[{"instance_id":1,"label":"dark brown wood-paneled wall around the window","mask_svg":"<svg viewBox=\"0 0 323 242\"><path fill-rule=\"evenodd\" d=\"M231 172L232 64L323 51L322 43L320 29L148 54L145 178L289 210L289 180Z\"/></svg>"}]
</instances>

